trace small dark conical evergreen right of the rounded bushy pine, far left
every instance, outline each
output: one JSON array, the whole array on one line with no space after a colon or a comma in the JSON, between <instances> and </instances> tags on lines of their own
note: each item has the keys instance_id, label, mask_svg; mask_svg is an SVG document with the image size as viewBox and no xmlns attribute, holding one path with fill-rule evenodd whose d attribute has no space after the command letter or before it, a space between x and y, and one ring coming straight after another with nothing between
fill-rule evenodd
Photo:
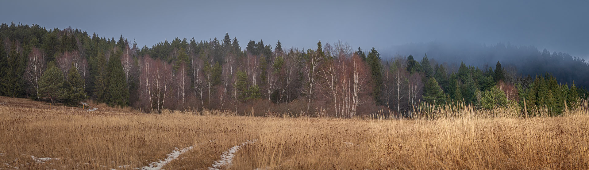
<instances>
[{"instance_id":1,"label":"small dark conical evergreen right of the rounded bushy pine, far left","mask_svg":"<svg viewBox=\"0 0 589 170\"><path fill-rule=\"evenodd\" d=\"M68 81L65 82L64 90L64 103L68 106L77 106L80 104L80 101L87 98L86 92L84 91L84 81L82 81L82 77L74 64L70 68Z\"/></svg>"}]
</instances>

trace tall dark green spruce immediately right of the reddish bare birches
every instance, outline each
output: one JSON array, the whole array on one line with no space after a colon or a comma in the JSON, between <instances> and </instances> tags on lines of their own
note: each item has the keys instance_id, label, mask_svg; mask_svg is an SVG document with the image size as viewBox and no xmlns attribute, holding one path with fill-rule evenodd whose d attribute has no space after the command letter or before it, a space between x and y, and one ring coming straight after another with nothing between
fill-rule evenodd
<instances>
[{"instance_id":1,"label":"tall dark green spruce immediately right of the reddish bare birches","mask_svg":"<svg viewBox=\"0 0 589 170\"><path fill-rule=\"evenodd\" d=\"M382 87L382 71L380 67L382 67L382 63L380 62L380 53L374 47L368 52L366 63L368 63L372 77L372 98L380 104L380 87Z\"/></svg>"}]
</instances>

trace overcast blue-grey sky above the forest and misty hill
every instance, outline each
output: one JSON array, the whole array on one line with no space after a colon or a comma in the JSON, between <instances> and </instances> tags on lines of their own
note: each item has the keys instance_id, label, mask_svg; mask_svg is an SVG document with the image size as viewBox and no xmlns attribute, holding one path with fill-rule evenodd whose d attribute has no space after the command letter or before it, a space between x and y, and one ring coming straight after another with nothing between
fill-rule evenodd
<instances>
[{"instance_id":1,"label":"overcast blue-grey sky above the forest and misty hill","mask_svg":"<svg viewBox=\"0 0 589 170\"><path fill-rule=\"evenodd\" d=\"M589 58L587 0L427 1L2 1L0 22L82 29L151 47L176 37L244 47L316 47L338 39L387 49L411 42L510 42Z\"/></svg>"}]
</instances>

